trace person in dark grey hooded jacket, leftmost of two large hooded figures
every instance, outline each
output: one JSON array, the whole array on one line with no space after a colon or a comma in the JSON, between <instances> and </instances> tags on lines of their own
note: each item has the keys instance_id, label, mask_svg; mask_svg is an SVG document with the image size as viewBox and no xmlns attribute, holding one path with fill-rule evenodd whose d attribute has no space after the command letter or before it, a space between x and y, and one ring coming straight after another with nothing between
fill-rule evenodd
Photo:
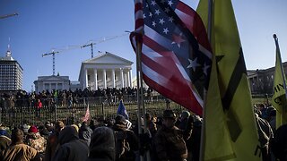
<instances>
[{"instance_id":1,"label":"person in dark grey hooded jacket, leftmost of two large hooded figures","mask_svg":"<svg viewBox=\"0 0 287 161\"><path fill-rule=\"evenodd\" d=\"M72 126L66 126L59 134L60 147L57 149L54 161L83 161L88 158L89 148L79 140L77 131Z\"/></svg>"}]
</instances>

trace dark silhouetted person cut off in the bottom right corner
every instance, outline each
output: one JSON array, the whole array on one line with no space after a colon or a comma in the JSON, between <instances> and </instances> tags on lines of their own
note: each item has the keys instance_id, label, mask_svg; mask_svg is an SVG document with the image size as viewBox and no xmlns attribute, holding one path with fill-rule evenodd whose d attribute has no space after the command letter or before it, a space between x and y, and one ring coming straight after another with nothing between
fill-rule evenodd
<instances>
[{"instance_id":1,"label":"dark silhouetted person cut off in the bottom right corner","mask_svg":"<svg viewBox=\"0 0 287 161\"><path fill-rule=\"evenodd\" d=\"M287 124L283 124L274 131L274 138L270 140L270 147L274 157L280 161L287 160Z\"/></svg>"}]
</instances>

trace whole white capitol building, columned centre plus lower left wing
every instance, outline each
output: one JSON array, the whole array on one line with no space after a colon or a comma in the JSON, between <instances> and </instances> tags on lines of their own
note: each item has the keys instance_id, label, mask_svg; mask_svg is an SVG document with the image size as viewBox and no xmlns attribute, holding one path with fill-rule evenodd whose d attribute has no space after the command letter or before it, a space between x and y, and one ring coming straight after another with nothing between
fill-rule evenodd
<instances>
[{"instance_id":1,"label":"whole white capitol building, columned centre plus lower left wing","mask_svg":"<svg viewBox=\"0 0 287 161\"><path fill-rule=\"evenodd\" d=\"M132 88L132 64L131 61L105 52L82 62L79 83L71 83L68 76L40 76L34 81L35 90Z\"/></svg>"}]
</instances>

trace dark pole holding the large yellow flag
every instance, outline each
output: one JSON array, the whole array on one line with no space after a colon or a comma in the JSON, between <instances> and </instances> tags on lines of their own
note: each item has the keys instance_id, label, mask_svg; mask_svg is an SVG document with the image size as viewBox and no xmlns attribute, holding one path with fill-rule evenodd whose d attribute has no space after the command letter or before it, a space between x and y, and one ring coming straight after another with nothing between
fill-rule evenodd
<instances>
[{"instance_id":1,"label":"dark pole holding the large yellow flag","mask_svg":"<svg viewBox=\"0 0 287 161\"><path fill-rule=\"evenodd\" d=\"M213 25L213 0L208 0L208 21L207 21L207 37L212 45L212 25ZM214 55L213 55L214 56ZM215 60L215 59L213 59ZM207 97L207 91L204 90L204 114L203 114L203 124L201 127L201 139L200 139L200 155L199 155L199 160L203 161L204 160L204 145L205 145L205 107L206 107L206 97Z\"/></svg>"}]
</instances>

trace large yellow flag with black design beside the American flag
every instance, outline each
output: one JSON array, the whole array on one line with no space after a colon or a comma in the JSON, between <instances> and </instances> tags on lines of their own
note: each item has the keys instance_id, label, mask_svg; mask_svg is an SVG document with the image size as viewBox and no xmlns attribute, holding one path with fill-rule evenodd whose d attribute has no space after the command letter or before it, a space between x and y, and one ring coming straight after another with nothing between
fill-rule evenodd
<instances>
[{"instance_id":1,"label":"large yellow flag with black design beside the American flag","mask_svg":"<svg viewBox=\"0 0 287 161\"><path fill-rule=\"evenodd\" d=\"M208 0L197 13L211 28L213 69L204 107L203 160L261 160L239 31L230 0Z\"/></svg>"}]
</instances>

